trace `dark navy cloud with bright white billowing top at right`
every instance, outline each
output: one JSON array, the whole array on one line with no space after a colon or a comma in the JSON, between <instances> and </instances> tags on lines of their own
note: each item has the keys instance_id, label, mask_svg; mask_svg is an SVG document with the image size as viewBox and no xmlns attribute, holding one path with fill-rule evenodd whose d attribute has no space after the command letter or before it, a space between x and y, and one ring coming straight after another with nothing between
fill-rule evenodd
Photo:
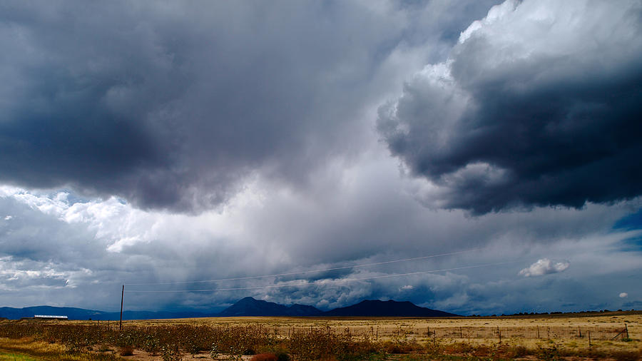
<instances>
[{"instance_id":1,"label":"dark navy cloud with bright white billowing top at right","mask_svg":"<svg viewBox=\"0 0 642 361\"><path fill-rule=\"evenodd\" d=\"M642 194L642 7L506 1L427 66L379 131L424 200L473 213Z\"/></svg>"}]
</instances>

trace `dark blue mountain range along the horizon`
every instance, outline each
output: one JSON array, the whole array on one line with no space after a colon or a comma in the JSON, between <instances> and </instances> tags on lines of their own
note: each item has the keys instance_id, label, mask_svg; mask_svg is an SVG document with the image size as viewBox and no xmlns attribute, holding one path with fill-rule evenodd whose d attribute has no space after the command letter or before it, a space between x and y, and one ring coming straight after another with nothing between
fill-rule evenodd
<instances>
[{"instance_id":1,"label":"dark blue mountain range along the horizon","mask_svg":"<svg viewBox=\"0 0 642 361\"><path fill-rule=\"evenodd\" d=\"M34 315L66 315L70 320L118 320L119 312L86 310L76 307L34 306L0 307L0 317L16 320ZM123 320L149 320L188 317L292 316L292 317L449 317L453 313L419 307L412 302L364 300L355 305L322 311L308 305L280 305L275 302L246 297L222 312L152 312L124 311Z\"/></svg>"}]
</instances>

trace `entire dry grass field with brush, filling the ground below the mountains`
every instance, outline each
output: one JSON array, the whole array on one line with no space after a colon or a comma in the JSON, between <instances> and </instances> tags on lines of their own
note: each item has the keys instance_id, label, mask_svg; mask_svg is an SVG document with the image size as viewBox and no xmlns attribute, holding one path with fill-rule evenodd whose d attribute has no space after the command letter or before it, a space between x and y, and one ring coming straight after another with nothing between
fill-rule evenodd
<instances>
[{"instance_id":1,"label":"entire dry grass field with brush, filling the ground below the mountains","mask_svg":"<svg viewBox=\"0 0 642 361\"><path fill-rule=\"evenodd\" d=\"M642 356L642 312L432 319L208 317L126 321L124 333L118 332L118 322L107 325L105 321L4 321L0 350L51 360L61 355L67 360L211 360L210 356L249 360L260 352L287 354L295 360L639 360ZM14 335L9 332L12 327L24 330ZM57 337L57 330L76 332L81 341L70 335ZM119 355L128 353L122 352L123 347L131 347L132 355Z\"/></svg>"}]
</instances>

